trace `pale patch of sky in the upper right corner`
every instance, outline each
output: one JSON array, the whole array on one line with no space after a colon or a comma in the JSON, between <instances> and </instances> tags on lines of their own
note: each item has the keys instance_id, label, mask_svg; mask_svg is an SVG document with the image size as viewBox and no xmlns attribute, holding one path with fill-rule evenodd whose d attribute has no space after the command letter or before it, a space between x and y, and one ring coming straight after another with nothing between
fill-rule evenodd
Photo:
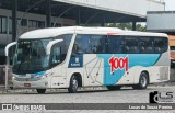
<instances>
[{"instance_id":1,"label":"pale patch of sky in the upper right corner","mask_svg":"<svg viewBox=\"0 0 175 113\"><path fill-rule=\"evenodd\" d=\"M161 0L163 1L163 0ZM166 11L175 11L175 0L164 0Z\"/></svg>"}]
</instances>

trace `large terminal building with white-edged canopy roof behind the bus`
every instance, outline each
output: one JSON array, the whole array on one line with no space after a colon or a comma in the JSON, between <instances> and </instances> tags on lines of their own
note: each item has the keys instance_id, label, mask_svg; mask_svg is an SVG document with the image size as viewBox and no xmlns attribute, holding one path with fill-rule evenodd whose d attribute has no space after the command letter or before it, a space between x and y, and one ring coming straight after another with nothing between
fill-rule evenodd
<instances>
[{"instance_id":1,"label":"large terminal building with white-edged canopy roof behind the bus","mask_svg":"<svg viewBox=\"0 0 175 113\"><path fill-rule=\"evenodd\" d=\"M136 7L137 5L137 7ZM0 0L0 65L7 44L31 30L145 22L147 11L163 11L155 0Z\"/></svg>"}]
</instances>

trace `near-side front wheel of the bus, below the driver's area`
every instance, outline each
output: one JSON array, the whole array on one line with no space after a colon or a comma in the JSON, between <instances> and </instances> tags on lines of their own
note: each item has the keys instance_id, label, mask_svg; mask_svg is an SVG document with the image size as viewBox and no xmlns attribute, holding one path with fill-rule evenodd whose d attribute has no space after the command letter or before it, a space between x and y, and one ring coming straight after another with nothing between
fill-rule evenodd
<instances>
[{"instance_id":1,"label":"near-side front wheel of the bus, below the driver's area","mask_svg":"<svg viewBox=\"0 0 175 113\"><path fill-rule=\"evenodd\" d=\"M78 87L79 87L78 83L79 83L79 82L78 82L77 77L75 77L75 76L72 76L71 79L70 79L70 86L69 86L69 88L68 88L69 93L75 93L75 92L77 92Z\"/></svg>"}]
</instances>

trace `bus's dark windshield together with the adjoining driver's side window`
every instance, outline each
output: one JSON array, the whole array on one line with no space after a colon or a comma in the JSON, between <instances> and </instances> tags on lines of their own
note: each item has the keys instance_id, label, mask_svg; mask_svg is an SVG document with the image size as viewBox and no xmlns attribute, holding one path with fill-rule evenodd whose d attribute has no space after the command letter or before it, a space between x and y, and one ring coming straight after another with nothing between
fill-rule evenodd
<instances>
[{"instance_id":1,"label":"bus's dark windshield together with the adjoining driver's side window","mask_svg":"<svg viewBox=\"0 0 175 113\"><path fill-rule=\"evenodd\" d=\"M34 74L45 71L61 64L71 42L71 34L48 37L47 39L20 39L13 61L14 74ZM52 39L62 39L51 47L51 54L46 54L46 47Z\"/></svg>"}]
</instances>

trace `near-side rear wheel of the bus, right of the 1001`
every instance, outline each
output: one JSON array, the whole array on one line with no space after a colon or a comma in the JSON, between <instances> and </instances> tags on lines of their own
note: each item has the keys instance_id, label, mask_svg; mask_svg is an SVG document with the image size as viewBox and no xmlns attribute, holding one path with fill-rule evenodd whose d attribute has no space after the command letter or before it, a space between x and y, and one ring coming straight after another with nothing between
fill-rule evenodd
<instances>
[{"instance_id":1,"label":"near-side rear wheel of the bus, right of the 1001","mask_svg":"<svg viewBox=\"0 0 175 113\"><path fill-rule=\"evenodd\" d=\"M149 75L147 72L140 74L139 84L132 86L133 89L147 89L149 84Z\"/></svg>"}]
</instances>

